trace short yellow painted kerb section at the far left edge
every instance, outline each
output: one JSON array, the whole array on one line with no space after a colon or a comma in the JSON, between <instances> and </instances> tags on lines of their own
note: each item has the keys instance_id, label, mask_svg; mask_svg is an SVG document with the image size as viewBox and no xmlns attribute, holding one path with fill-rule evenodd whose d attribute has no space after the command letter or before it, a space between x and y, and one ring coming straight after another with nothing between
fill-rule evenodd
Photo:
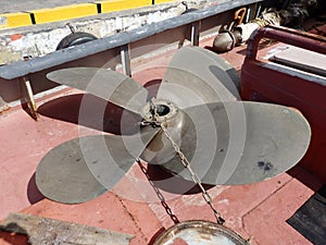
<instances>
[{"instance_id":1,"label":"short yellow painted kerb section at the far left edge","mask_svg":"<svg viewBox=\"0 0 326 245\"><path fill-rule=\"evenodd\" d=\"M32 25L29 13L0 14L0 29Z\"/></svg>"}]
</instances>

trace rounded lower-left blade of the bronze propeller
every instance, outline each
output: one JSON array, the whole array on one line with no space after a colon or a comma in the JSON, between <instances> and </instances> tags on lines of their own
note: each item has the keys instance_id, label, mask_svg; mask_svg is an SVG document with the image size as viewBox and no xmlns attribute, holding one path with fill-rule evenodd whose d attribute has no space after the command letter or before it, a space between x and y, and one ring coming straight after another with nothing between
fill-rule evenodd
<instances>
[{"instance_id":1,"label":"rounded lower-left blade of the bronze propeller","mask_svg":"<svg viewBox=\"0 0 326 245\"><path fill-rule=\"evenodd\" d=\"M36 184L48 198L79 204L111 189L130 169L159 128L133 136L91 135L51 149L36 170Z\"/></svg>"}]
</instances>

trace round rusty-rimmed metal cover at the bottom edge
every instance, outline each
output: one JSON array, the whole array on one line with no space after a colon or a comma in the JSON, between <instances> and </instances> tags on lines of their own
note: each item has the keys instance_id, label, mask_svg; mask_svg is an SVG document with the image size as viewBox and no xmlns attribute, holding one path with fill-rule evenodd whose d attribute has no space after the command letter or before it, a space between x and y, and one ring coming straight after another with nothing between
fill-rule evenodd
<instances>
[{"instance_id":1,"label":"round rusty-rimmed metal cover at the bottom edge","mask_svg":"<svg viewBox=\"0 0 326 245\"><path fill-rule=\"evenodd\" d=\"M153 245L249 245L249 243L223 225L192 220L167 229Z\"/></svg>"}]
</instances>

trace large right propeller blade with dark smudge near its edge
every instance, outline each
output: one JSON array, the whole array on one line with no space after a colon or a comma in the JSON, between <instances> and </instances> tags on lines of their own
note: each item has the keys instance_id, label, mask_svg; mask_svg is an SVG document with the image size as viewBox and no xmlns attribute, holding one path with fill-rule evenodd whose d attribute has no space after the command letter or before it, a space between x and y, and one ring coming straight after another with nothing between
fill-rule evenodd
<instances>
[{"instance_id":1,"label":"large right propeller blade with dark smudge near its edge","mask_svg":"<svg viewBox=\"0 0 326 245\"><path fill-rule=\"evenodd\" d=\"M180 149L202 183L261 182L293 167L305 154L311 130L296 109L259 102L214 102L183 110L195 127ZM168 126L168 125L167 125ZM178 156L162 167L192 180Z\"/></svg>"}]
</instances>

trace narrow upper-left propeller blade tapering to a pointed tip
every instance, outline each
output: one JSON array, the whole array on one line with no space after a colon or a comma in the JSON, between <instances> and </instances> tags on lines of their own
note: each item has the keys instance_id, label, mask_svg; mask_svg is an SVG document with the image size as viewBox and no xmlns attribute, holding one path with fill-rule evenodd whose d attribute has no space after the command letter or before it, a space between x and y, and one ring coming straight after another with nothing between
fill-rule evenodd
<instances>
[{"instance_id":1,"label":"narrow upper-left propeller blade tapering to a pointed tip","mask_svg":"<svg viewBox=\"0 0 326 245\"><path fill-rule=\"evenodd\" d=\"M74 87L140 113L148 90L135 79L115 71L98 68L70 68L47 74L50 81Z\"/></svg>"}]
</instances>

